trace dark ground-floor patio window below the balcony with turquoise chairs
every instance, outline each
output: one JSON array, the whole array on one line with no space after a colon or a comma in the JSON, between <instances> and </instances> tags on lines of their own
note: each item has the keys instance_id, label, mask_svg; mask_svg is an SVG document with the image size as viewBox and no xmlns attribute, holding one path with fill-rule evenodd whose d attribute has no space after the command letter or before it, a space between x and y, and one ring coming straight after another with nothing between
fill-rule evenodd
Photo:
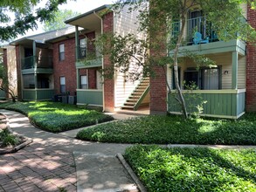
<instances>
[{"instance_id":1,"label":"dark ground-floor patio window below the balcony with turquoise chairs","mask_svg":"<svg viewBox=\"0 0 256 192\"><path fill-rule=\"evenodd\" d=\"M191 86L193 83L202 90L220 89L220 68L204 68L188 70L184 72L185 86Z\"/></svg>"}]
</instances>

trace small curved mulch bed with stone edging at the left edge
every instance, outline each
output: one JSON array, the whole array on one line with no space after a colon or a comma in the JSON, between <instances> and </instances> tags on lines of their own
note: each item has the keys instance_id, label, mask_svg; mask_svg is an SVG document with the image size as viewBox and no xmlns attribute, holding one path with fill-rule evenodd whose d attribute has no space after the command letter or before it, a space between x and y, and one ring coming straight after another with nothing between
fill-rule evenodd
<instances>
[{"instance_id":1,"label":"small curved mulch bed with stone edging at the left edge","mask_svg":"<svg viewBox=\"0 0 256 192\"><path fill-rule=\"evenodd\" d=\"M10 134L13 134L16 136L17 138L17 145L15 146L3 146L3 142L0 141L0 154L10 154L10 153L15 153L17 152L19 149L29 145L32 140L29 140L28 138L24 138L24 136L18 135L18 134L14 134L11 130L10 127L8 126L8 120L6 119L6 117L0 113L0 130L3 129L8 129Z\"/></svg>"}]
</instances>

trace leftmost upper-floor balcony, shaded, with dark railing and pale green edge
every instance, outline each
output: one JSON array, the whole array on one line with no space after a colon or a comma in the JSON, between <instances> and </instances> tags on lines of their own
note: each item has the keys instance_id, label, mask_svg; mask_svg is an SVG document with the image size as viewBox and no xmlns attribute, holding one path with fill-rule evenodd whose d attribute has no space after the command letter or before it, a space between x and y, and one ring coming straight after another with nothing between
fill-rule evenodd
<instances>
[{"instance_id":1,"label":"leftmost upper-floor balcony, shaded, with dark railing and pale green edge","mask_svg":"<svg viewBox=\"0 0 256 192\"><path fill-rule=\"evenodd\" d=\"M52 72L52 57L31 56L21 59L23 74L31 72Z\"/></svg>"}]
</instances>

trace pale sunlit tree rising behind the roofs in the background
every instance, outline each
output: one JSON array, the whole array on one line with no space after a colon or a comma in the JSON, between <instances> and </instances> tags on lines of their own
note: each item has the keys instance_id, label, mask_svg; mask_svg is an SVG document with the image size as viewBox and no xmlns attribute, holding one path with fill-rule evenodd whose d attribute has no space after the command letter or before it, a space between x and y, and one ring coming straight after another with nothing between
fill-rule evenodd
<instances>
[{"instance_id":1,"label":"pale sunlit tree rising behind the roofs in the background","mask_svg":"<svg viewBox=\"0 0 256 192\"><path fill-rule=\"evenodd\" d=\"M79 12L73 12L72 10L57 10L54 13L52 21L46 21L43 27L44 31L53 31L61 28L65 28L68 24L65 24L69 18L80 15Z\"/></svg>"}]
</instances>

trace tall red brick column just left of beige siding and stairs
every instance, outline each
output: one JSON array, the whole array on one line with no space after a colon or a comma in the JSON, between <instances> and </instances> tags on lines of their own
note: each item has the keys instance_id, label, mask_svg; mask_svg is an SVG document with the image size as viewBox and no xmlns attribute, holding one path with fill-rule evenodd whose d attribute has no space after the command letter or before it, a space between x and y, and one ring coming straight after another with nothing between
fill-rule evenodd
<instances>
[{"instance_id":1,"label":"tall red brick column just left of beige siding and stairs","mask_svg":"<svg viewBox=\"0 0 256 192\"><path fill-rule=\"evenodd\" d=\"M114 14L113 12L107 13L103 17L103 32L113 33L114 31ZM111 61L107 55L104 56L104 67L111 65ZM114 79L106 79L104 81L104 101L105 111L114 111Z\"/></svg>"}]
</instances>

